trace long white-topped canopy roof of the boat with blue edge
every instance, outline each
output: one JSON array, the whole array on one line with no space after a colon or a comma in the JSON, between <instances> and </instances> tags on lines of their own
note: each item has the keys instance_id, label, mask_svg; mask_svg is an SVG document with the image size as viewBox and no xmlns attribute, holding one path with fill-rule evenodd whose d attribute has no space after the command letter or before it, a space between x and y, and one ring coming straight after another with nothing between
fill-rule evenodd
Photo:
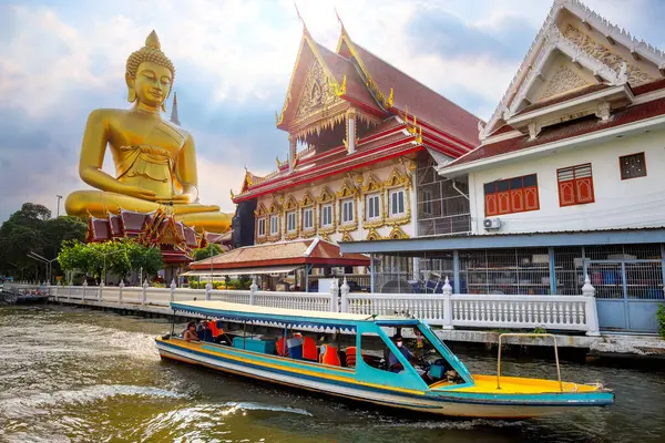
<instances>
[{"instance_id":1,"label":"long white-topped canopy roof of the boat with blue edge","mask_svg":"<svg viewBox=\"0 0 665 443\"><path fill-rule=\"evenodd\" d=\"M171 308L176 312L198 313L226 320L265 321L285 326L314 326L349 330L356 330L359 322L374 322L383 327L416 326L420 322L407 317L306 311L213 300L171 302Z\"/></svg>"}]
</instances>

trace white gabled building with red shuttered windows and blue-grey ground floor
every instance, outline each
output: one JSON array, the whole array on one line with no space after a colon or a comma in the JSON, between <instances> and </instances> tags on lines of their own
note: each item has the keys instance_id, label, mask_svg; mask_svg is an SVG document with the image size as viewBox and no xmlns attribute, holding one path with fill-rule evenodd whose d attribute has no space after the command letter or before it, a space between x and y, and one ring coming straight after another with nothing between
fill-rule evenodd
<instances>
[{"instance_id":1,"label":"white gabled building with red shuttered windows and blue-grey ground floor","mask_svg":"<svg viewBox=\"0 0 665 443\"><path fill-rule=\"evenodd\" d=\"M478 136L417 187L419 215L438 216L423 196L440 181L467 185L468 233L345 243L342 253L391 257L400 266L374 270L413 291L440 292L448 276L456 293L579 295L589 276L602 329L655 331L665 53L577 0L556 0Z\"/></svg>"}]
</instances>

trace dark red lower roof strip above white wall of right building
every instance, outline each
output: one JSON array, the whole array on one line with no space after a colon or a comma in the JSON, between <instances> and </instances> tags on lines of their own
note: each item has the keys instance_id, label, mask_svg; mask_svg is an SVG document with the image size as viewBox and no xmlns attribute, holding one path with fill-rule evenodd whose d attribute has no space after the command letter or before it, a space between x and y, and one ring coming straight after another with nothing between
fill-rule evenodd
<instances>
[{"instance_id":1,"label":"dark red lower roof strip above white wall of right building","mask_svg":"<svg viewBox=\"0 0 665 443\"><path fill-rule=\"evenodd\" d=\"M453 167L484 158L491 158L497 155L522 151L529 147L543 145L545 143L584 135L595 131L607 130L610 127L616 127L663 114L665 114L665 99L654 100L615 112L606 122L603 122L595 115L590 115L583 119L545 127L534 140L529 140L529 135L524 135L497 143L481 145L471 151L469 154L448 164L446 167L443 167L443 171L446 171L448 167Z\"/></svg>"}]
</instances>

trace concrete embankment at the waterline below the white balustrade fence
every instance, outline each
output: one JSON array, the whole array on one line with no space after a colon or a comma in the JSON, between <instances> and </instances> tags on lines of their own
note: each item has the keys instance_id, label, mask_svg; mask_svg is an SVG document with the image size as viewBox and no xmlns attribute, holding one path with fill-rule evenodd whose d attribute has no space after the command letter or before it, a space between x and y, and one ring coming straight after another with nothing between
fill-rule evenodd
<instances>
[{"instance_id":1,"label":"concrete embankment at the waterline below the white balustrade fence","mask_svg":"<svg viewBox=\"0 0 665 443\"><path fill-rule=\"evenodd\" d=\"M120 315L142 316L142 317L163 317L173 318L173 310L165 306L140 305L140 303L119 303L114 301L96 300L75 300L60 298L53 303L76 306L81 308L92 308L102 310L112 310ZM196 316L194 316L196 317ZM185 321L186 318L177 316L177 321ZM255 327L265 329L265 327ZM452 348L495 348L499 343L499 336L503 332L512 331L482 331L482 330L443 330L436 329L437 334L449 343ZM518 331L515 331L518 332ZM409 336L408 331L402 332ZM594 359L665 359L665 340L655 336L636 334L602 334L600 337L589 337L584 334L554 334L556 346L565 354L583 353L587 360ZM532 349L533 352L548 356L548 348L552 348L552 339L542 337L504 337L502 343L513 349ZM544 349L543 349L544 348ZM551 354L553 357L553 354Z\"/></svg>"}]
</instances>

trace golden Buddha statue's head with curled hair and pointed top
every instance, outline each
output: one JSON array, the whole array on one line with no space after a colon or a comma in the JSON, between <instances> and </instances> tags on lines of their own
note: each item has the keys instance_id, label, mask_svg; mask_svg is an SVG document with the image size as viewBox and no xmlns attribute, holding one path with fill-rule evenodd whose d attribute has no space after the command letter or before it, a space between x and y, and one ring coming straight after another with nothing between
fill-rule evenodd
<instances>
[{"instance_id":1,"label":"golden Buddha statue's head with curled hair and pointed top","mask_svg":"<svg viewBox=\"0 0 665 443\"><path fill-rule=\"evenodd\" d=\"M130 103L139 102L151 107L160 107L171 94L175 69L162 52L160 39L152 31L145 39L145 47L134 51L127 59L125 81Z\"/></svg>"}]
</instances>

